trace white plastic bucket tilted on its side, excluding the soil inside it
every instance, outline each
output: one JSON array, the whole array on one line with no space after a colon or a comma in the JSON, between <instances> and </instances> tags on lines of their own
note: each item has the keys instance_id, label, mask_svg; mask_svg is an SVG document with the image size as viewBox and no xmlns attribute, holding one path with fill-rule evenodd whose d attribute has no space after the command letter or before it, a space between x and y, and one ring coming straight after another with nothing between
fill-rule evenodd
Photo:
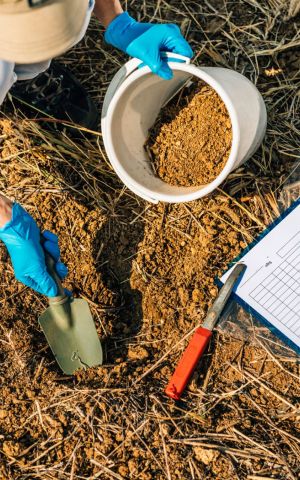
<instances>
[{"instance_id":1,"label":"white plastic bucket tilted on its side, excluding the soil inside it","mask_svg":"<svg viewBox=\"0 0 300 480\"><path fill-rule=\"evenodd\" d=\"M246 77L226 68L196 67L189 59L169 65L172 80L163 80L148 67L138 68L137 59L127 62L107 90L102 109L102 135L108 158L120 179L134 193L152 203L188 202L217 188L228 174L253 155L261 144L267 123L264 101ZM209 184L176 187L156 177L144 149L148 131L162 105L191 76L209 84L225 103L232 125L232 147L228 161Z\"/></svg>"}]
</instances>

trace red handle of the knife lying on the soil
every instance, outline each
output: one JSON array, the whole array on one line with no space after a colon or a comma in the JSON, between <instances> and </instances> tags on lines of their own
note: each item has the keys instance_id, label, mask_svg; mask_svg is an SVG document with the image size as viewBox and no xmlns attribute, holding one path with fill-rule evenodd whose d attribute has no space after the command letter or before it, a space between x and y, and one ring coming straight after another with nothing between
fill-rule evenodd
<instances>
[{"instance_id":1,"label":"red handle of the knife lying on the soil","mask_svg":"<svg viewBox=\"0 0 300 480\"><path fill-rule=\"evenodd\" d=\"M212 331L207 328L197 328L190 343L183 352L175 372L165 390L168 397L179 400L198 361L203 355L212 336Z\"/></svg>"}]
</instances>

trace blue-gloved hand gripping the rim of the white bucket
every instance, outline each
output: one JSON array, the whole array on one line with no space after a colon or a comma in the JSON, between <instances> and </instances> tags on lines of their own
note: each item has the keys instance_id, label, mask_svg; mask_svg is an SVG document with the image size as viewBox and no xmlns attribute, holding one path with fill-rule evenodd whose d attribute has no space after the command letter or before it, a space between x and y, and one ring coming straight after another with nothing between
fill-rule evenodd
<instances>
[{"instance_id":1,"label":"blue-gloved hand gripping the rim of the white bucket","mask_svg":"<svg viewBox=\"0 0 300 480\"><path fill-rule=\"evenodd\" d=\"M193 50L177 25L136 22L127 12L118 15L107 27L105 41L131 57L142 60L152 72L165 80L173 77L162 52L191 58Z\"/></svg>"}]
</instances>

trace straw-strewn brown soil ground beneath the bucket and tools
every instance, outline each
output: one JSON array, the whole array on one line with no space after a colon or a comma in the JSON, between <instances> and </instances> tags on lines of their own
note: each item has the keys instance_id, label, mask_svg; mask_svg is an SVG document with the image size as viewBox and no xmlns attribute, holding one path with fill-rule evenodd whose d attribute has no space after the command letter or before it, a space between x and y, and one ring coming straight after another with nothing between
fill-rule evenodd
<instances>
[{"instance_id":1,"label":"straw-strewn brown soil ground beneath the bucket and tools","mask_svg":"<svg viewBox=\"0 0 300 480\"><path fill-rule=\"evenodd\" d=\"M299 17L267 1L131 8L179 23L196 64L255 82L267 135L211 195L153 205L124 188L100 134L59 133L9 100L2 107L1 190L59 235L66 287L89 301L105 365L60 373L37 323L46 300L14 279L1 246L0 478L294 480L299 365L260 330L216 332L182 401L163 390L185 347L174 345L217 295L215 276L299 197ZM100 110L125 57L102 45L95 22L62 60Z\"/></svg>"}]
</instances>

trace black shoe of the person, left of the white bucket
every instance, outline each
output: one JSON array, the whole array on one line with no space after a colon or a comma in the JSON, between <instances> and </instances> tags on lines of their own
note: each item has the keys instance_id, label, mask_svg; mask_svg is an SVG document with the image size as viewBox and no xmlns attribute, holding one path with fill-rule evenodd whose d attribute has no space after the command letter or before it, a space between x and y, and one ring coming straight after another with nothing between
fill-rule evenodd
<instances>
[{"instance_id":1,"label":"black shoe of the person, left of the white bucket","mask_svg":"<svg viewBox=\"0 0 300 480\"><path fill-rule=\"evenodd\" d=\"M17 82L12 97L58 120L95 130L99 114L93 100L72 73L59 63L33 80Z\"/></svg>"}]
</instances>

